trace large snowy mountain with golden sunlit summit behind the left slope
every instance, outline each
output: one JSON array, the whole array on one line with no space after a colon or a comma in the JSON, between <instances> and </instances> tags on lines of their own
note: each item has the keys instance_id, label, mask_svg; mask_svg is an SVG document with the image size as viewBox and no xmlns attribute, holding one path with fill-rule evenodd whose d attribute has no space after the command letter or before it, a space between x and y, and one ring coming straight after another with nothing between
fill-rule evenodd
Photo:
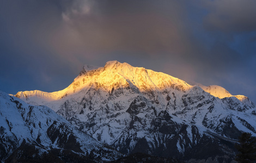
<instances>
[{"instance_id":1,"label":"large snowy mountain with golden sunlit summit behind the left slope","mask_svg":"<svg viewBox=\"0 0 256 163\"><path fill-rule=\"evenodd\" d=\"M237 137L245 131L256 136L255 105L245 96L118 61L87 67L62 91L15 96L48 106L124 154L230 162Z\"/></svg>"}]
</instances>

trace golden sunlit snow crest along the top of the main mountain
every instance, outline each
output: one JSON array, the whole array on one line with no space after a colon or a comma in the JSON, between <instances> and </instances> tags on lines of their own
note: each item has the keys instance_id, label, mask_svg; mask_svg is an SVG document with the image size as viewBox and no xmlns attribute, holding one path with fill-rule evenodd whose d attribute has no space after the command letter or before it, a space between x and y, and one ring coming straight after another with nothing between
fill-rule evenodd
<instances>
[{"instance_id":1,"label":"golden sunlit snow crest along the top of the main mountain","mask_svg":"<svg viewBox=\"0 0 256 163\"><path fill-rule=\"evenodd\" d=\"M120 86L135 86L140 91L164 90L170 86L179 86L180 89L186 91L192 87L183 80L162 72L147 70L143 67L133 67L126 62L108 61L104 67L84 65L83 70L74 79L74 82L64 90L51 93L38 90L23 91L17 92L15 97L19 97L25 101L33 97L44 99L44 101L56 101L82 89L88 89L94 83L97 83L98 87L102 87L106 92L117 89ZM246 96L233 96L221 86L211 85L207 87L202 84L197 85L212 96L218 98L236 97L241 102L248 101Z\"/></svg>"}]
</instances>

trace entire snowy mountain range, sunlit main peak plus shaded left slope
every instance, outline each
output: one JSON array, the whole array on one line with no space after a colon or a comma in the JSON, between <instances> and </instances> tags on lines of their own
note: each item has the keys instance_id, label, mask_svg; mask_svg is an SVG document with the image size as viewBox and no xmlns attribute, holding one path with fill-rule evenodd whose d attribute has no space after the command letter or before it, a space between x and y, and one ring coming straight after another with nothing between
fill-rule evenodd
<instances>
[{"instance_id":1,"label":"entire snowy mountain range, sunlit main peak plus shaded left slope","mask_svg":"<svg viewBox=\"0 0 256 163\"><path fill-rule=\"evenodd\" d=\"M256 136L256 108L248 97L118 61L84 66L61 91L1 95L1 109L14 110L1 110L0 134L8 138L1 150L9 158L25 141L39 151L70 150L84 157L94 149L101 160L141 152L188 162L231 162L241 133ZM58 142L54 135L63 134L60 128L76 139Z\"/></svg>"}]
</instances>

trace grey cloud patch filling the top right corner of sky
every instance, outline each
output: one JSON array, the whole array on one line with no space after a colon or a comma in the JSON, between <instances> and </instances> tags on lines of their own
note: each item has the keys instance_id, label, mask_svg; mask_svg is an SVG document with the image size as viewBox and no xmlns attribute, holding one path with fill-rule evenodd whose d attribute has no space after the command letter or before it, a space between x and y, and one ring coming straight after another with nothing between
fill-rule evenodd
<instances>
[{"instance_id":1,"label":"grey cloud patch filling the top right corner of sky","mask_svg":"<svg viewBox=\"0 0 256 163\"><path fill-rule=\"evenodd\" d=\"M204 25L222 32L251 32L256 30L256 1L214 0L203 1L209 14Z\"/></svg>"}]
</instances>

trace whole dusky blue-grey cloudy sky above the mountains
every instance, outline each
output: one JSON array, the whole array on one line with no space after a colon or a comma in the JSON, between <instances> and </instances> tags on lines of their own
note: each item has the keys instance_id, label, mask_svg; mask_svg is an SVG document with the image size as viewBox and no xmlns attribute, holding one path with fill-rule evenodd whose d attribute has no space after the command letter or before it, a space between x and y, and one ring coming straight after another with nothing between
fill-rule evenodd
<instances>
[{"instance_id":1,"label":"whole dusky blue-grey cloudy sky above the mountains","mask_svg":"<svg viewBox=\"0 0 256 163\"><path fill-rule=\"evenodd\" d=\"M109 60L256 103L256 1L0 1L0 90L62 90Z\"/></svg>"}]
</instances>

